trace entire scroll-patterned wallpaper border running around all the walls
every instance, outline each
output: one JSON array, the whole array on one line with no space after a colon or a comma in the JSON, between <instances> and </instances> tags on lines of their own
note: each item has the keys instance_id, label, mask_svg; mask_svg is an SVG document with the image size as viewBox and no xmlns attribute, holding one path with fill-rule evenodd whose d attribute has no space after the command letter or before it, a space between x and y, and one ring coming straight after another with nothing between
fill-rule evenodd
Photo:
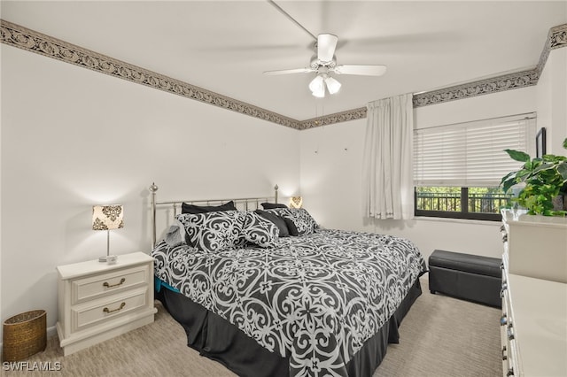
<instances>
[{"instance_id":1,"label":"entire scroll-patterned wallpaper border running around all the walls","mask_svg":"<svg viewBox=\"0 0 567 377\"><path fill-rule=\"evenodd\" d=\"M296 120L270 112L253 104L238 101L228 96L199 88L184 81L151 72L136 65L130 65L120 60L83 49L49 35L43 35L34 30L21 27L0 19L0 42L18 47L19 49L35 52L49 58L55 58L66 63L79 65L99 73L136 82L151 88L166 91L178 96L195 99L206 104L213 104L233 112L249 115L281 126L299 130L326 126L334 123L366 118L366 107L336 112L319 118ZM549 29L548 39L540 55L538 65L530 70L508 73L490 79L472 81L449 88L441 88L414 96L414 108L430 104L442 104L457 99L481 96L515 88L525 88L536 85L540 74L548 60L549 51L567 47L567 24Z\"/></svg>"}]
</instances>

